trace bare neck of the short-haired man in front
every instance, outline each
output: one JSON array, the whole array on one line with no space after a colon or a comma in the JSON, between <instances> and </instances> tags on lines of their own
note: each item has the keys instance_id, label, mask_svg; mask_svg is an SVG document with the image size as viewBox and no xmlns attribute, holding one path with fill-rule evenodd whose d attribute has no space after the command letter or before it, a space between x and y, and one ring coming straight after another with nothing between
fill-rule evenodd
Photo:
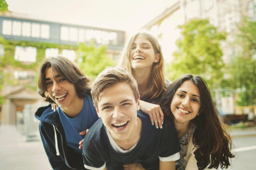
<instances>
[{"instance_id":1,"label":"bare neck of the short-haired man in front","mask_svg":"<svg viewBox=\"0 0 256 170\"><path fill-rule=\"evenodd\" d=\"M124 140L114 139L114 141L116 141L117 145L123 150L129 150L139 141L141 133L142 133L142 120L140 120L137 117L136 124L134 125L130 136Z\"/></svg>"}]
</instances>

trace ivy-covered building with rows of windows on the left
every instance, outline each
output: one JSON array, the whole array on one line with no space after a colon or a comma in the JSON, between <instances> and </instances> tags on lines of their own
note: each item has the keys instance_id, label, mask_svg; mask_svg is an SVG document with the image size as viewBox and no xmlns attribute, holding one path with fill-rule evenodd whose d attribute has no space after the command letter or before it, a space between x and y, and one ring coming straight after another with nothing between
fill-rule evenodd
<instances>
[{"instance_id":1,"label":"ivy-covered building with rows of windows on the left","mask_svg":"<svg viewBox=\"0 0 256 170\"><path fill-rule=\"evenodd\" d=\"M4 97L0 105L0 123L20 126L26 122L28 110L34 113L36 108L46 104L30 88L37 84L37 72L31 67L33 63L58 55L75 60L74 49L78 43L89 44L91 41L95 46L106 45L108 56L116 60L124 45L124 34L120 30L34 20L14 12L0 15L0 59L4 55L5 58L8 55L7 60L11 58L10 63L5 61L5 64L0 60L3 61L0 63L0 96ZM49 45L50 48L27 46L30 44L27 42L43 43L42 46Z\"/></svg>"}]
</instances>

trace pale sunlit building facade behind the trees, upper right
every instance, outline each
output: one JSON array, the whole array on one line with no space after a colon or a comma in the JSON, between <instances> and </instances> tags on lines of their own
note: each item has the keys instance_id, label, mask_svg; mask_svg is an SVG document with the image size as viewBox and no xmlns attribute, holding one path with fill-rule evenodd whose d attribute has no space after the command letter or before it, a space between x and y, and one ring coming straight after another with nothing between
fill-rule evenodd
<instances>
[{"instance_id":1,"label":"pale sunlit building facade behind the trees, upper right","mask_svg":"<svg viewBox=\"0 0 256 170\"><path fill-rule=\"evenodd\" d=\"M243 16L256 19L255 0L177 0L143 29L149 30L160 39L165 61L169 63L176 50L175 41L181 37L178 25L195 18L209 19L219 31L231 33ZM227 43L222 45L225 63L229 62L228 56L235 50L227 45L233 39L234 37L228 35Z\"/></svg>"}]
</instances>

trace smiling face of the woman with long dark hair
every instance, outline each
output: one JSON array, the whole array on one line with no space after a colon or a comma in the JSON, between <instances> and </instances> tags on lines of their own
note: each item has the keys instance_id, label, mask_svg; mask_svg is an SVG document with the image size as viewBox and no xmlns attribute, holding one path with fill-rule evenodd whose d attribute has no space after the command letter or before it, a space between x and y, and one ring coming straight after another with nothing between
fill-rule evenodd
<instances>
[{"instance_id":1,"label":"smiling face of the woman with long dark hair","mask_svg":"<svg viewBox=\"0 0 256 170\"><path fill-rule=\"evenodd\" d=\"M200 106L199 89L193 81L187 80L176 90L170 107L176 121L184 123L197 116Z\"/></svg>"}]
</instances>

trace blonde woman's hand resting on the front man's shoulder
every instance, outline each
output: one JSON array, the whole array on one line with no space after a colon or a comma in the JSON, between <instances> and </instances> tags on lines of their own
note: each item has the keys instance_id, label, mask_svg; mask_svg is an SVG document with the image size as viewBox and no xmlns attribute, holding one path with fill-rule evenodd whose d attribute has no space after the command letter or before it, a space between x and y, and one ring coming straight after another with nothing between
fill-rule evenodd
<instances>
[{"instance_id":1,"label":"blonde woman's hand resting on the front man's shoulder","mask_svg":"<svg viewBox=\"0 0 256 170\"><path fill-rule=\"evenodd\" d=\"M151 124L153 125L155 123L156 128L162 129L163 124L163 111L159 105L148 103L145 101L140 100L140 109L149 115Z\"/></svg>"}]
</instances>

